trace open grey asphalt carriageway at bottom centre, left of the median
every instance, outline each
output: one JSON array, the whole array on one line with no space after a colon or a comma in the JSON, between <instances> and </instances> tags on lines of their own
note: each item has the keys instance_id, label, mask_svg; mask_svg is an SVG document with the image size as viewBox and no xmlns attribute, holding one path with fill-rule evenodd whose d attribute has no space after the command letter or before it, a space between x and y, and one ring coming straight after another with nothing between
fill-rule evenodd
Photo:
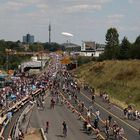
<instances>
[{"instance_id":1,"label":"open grey asphalt carriageway at bottom centre, left of the median","mask_svg":"<svg viewBox=\"0 0 140 140\"><path fill-rule=\"evenodd\" d=\"M50 109L50 100L51 97L47 97L44 110L34 107L29 128L45 130L45 123L49 121L49 132L45 133L48 140L91 140L96 137L94 134L90 136L82 131L83 122L78 120L78 116L67 109L66 105L55 105L54 110ZM63 121L68 125L67 137L62 134Z\"/></svg>"}]
</instances>

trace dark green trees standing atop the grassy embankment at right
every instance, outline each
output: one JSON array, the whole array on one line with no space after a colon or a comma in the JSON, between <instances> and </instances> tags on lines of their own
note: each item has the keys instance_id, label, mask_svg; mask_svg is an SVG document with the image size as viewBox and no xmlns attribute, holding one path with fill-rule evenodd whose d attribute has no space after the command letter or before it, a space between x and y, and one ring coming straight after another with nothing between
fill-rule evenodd
<instances>
[{"instance_id":1,"label":"dark green trees standing atop the grassy embankment at right","mask_svg":"<svg viewBox=\"0 0 140 140\"><path fill-rule=\"evenodd\" d=\"M130 43L126 36L119 43L119 34L116 28L107 30L105 51L100 55L99 60L106 59L140 59L140 35L134 43Z\"/></svg>"}]
</instances>

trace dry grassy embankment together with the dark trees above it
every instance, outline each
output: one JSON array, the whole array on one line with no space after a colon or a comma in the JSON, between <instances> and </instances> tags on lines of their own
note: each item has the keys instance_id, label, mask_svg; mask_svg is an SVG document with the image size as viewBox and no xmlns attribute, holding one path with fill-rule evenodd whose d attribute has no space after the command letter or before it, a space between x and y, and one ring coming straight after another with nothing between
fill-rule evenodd
<instances>
[{"instance_id":1,"label":"dry grassy embankment together with the dark trees above it","mask_svg":"<svg viewBox=\"0 0 140 140\"><path fill-rule=\"evenodd\" d=\"M140 60L135 60L140 59L140 36L134 43L130 43L127 37L119 43L117 29L110 28L105 38L105 51L99 62L80 58L80 65L89 63L78 67L74 74L97 91L110 94L119 105L131 103L140 109Z\"/></svg>"}]
</instances>

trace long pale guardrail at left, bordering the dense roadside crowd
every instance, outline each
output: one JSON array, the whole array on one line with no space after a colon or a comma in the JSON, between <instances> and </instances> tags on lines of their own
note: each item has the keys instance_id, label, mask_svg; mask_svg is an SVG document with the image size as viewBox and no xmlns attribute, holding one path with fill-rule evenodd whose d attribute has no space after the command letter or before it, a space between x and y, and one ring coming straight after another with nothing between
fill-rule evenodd
<instances>
[{"instance_id":1,"label":"long pale guardrail at left, bordering the dense roadside crowd","mask_svg":"<svg viewBox=\"0 0 140 140\"><path fill-rule=\"evenodd\" d=\"M2 134L4 132L5 126L9 123L9 119L8 119L7 113L11 112L11 111L13 113L17 112L22 106L24 106L33 97L36 97L40 93L42 93L42 89L37 89L31 95L28 95L28 96L24 97L22 100L20 100L20 101L16 102L15 104L13 104L13 106L11 106L9 109L6 109L6 110L4 110L2 112L3 115L2 115L2 117L0 117L0 137L2 137Z\"/></svg>"}]
</instances>

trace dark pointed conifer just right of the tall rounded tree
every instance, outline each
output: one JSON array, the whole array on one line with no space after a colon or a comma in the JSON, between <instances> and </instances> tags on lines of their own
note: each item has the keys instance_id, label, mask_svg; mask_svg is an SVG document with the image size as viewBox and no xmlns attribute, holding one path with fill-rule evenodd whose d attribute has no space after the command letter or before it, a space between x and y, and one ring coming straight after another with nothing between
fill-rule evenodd
<instances>
[{"instance_id":1,"label":"dark pointed conifer just right of the tall rounded tree","mask_svg":"<svg viewBox=\"0 0 140 140\"><path fill-rule=\"evenodd\" d=\"M131 43L128 41L127 37L124 37L120 45L119 59L128 59L128 50L130 49Z\"/></svg>"}]
</instances>

